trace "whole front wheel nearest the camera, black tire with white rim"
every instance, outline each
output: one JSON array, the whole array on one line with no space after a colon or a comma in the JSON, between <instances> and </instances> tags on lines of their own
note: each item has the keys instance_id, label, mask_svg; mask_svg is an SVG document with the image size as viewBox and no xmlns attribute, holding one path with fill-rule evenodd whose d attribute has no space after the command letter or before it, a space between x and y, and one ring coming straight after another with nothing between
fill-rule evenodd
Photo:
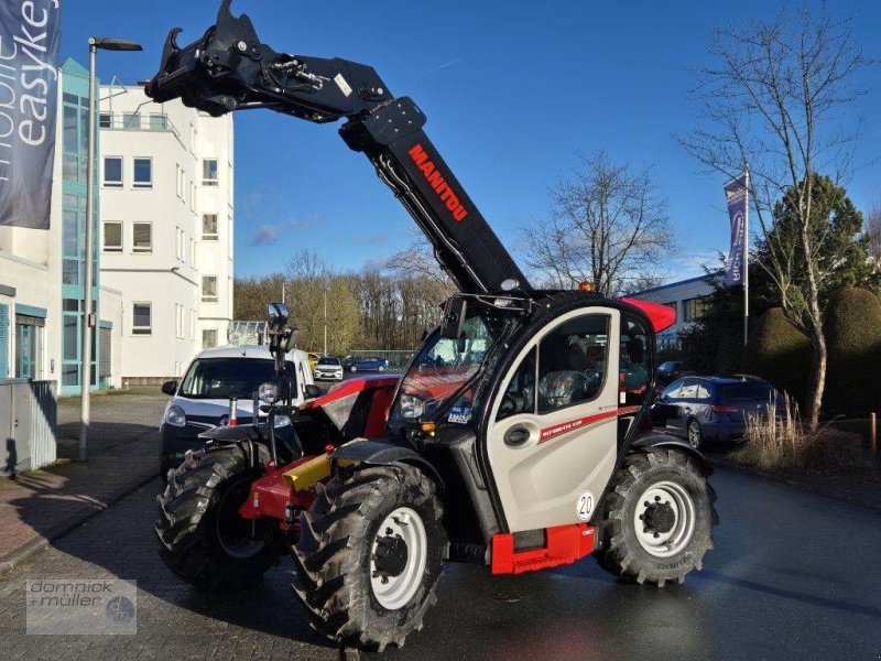
<instances>
[{"instance_id":1,"label":"whole front wheel nearest the camera, black tire with white rim","mask_svg":"<svg viewBox=\"0 0 881 661\"><path fill-rule=\"evenodd\" d=\"M404 464L319 485L294 548L293 587L313 626L345 646L403 646L437 600L442 516L434 483Z\"/></svg>"}]
</instances>

